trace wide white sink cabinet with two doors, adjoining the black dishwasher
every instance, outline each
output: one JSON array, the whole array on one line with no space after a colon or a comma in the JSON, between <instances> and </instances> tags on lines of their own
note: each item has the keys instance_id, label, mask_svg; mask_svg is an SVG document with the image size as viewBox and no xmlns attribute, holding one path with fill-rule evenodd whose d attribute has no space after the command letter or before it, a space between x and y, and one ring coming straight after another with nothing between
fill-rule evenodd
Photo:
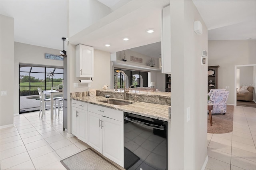
<instances>
[{"instance_id":1,"label":"wide white sink cabinet with two doors, adjoining the black dishwasher","mask_svg":"<svg viewBox=\"0 0 256 170\"><path fill-rule=\"evenodd\" d=\"M124 167L123 117L122 111L88 104L88 144L122 167Z\"/></svg>"}]
</instances>

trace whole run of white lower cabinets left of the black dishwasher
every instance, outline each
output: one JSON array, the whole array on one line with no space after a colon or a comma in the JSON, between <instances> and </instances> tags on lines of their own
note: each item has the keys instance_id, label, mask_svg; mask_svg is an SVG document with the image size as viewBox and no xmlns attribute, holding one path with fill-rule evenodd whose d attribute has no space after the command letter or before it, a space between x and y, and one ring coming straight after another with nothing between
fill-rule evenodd
<instances>
[{"instance_id":1,"label":"whole run of white lower cabinets left of the black dishwasher","mask_svg":"<svg viewBox=\"0 0 256 170\"><path fill-rule=\"evenodd\" d=\"M124 167L124 115L122 111L72 100L72 134L106 158ZM75 107L77 106L80 107Z\"/></svg>"}]
</instances>

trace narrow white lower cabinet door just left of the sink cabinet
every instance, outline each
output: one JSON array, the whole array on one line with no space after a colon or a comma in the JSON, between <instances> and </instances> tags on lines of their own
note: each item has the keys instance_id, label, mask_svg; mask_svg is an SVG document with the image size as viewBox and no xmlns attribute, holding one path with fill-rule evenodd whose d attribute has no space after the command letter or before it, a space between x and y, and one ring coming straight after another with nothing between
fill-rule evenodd
<instances>
[{"instance_id":1,"label":"narrow white lower cabinet door just left of the sink cabinet","mask_svg":"<svg viewBox=\"0 0 256 170\"><path fill-rule=\"evenodd\" d=\"M78 139L87 143L87 111L82 109L77 109L77 132Z\"/></svg>"}]
</instances>

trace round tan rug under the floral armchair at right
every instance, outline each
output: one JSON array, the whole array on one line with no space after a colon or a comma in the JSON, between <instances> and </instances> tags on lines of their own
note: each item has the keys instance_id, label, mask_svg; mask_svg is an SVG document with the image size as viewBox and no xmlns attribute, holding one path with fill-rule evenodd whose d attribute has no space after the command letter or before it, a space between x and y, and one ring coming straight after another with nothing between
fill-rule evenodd
<instances>
[{"instance_id":1,"label":"round tan rug under the floral armchair at right","mask_svg":"<svg viewBox=\"0 0 256 170\"><path fill-rule=\"evenodd\" d=\"M212 114L212 126L208 116L208 133L229 133L233 131L234 106L227 105L227 112L223 114Z\"/></svg>"}]
</instances>

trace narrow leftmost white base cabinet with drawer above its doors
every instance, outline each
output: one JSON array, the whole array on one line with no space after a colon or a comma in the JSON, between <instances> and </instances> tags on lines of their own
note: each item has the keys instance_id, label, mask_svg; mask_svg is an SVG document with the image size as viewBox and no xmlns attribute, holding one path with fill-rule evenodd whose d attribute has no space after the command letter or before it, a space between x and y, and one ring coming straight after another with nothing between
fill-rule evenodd
<instances>
[{"instance_id":1,"label":"narrow leftmost white base cabinet with drawer above its doors","mask_svg":"<svg viewBox=\"0 0 256 170\"><path fill-rule=\"evenodd\" d=\"M87 143L87 103L72 100L71 132Z\"/></svg>"}]
</instances>

